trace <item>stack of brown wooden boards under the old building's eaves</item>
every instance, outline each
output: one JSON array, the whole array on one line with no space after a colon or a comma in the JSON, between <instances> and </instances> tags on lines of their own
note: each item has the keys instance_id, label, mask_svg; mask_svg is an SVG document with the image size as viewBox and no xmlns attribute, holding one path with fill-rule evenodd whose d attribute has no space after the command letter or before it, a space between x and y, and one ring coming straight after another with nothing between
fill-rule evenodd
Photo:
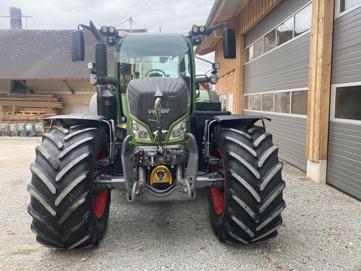
<instances>
[{"instance_id":1,"label":"stack of brown wooden boards under the old building's eaves","mask_svg":"<svg viewBox=\"0 0 361 271\"><path fill-rule=\"evenodd\" d=\"M0 117L3 123L16 123L18 118L20 123L26 121L43 122L44 129L49 131L50 122L44 121L45 118L59 115L59 108L64 103L59 98L43 96L0 96Z\"/></svg>"}]
</instances>

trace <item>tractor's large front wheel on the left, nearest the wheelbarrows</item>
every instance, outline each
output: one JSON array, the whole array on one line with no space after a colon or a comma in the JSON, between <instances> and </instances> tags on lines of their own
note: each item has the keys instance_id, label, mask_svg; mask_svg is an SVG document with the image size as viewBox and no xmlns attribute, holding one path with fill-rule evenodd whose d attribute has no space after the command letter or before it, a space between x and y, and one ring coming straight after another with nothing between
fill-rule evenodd
<instances>
[{"instance_id":1,"label":"tractor's large front wheel on the left, nearest the wheelbarrows","mask_svg":"<svg viewBox=\"0 0 361 271\"><path fill-rule=\"evenodd\" d=\"M31 164L28 212L40 244L61 249L99 244L109 216L110 189L93 195L96 160L108 155L100 125L61 126L43 134ZM97 168L106 172L107 168Z\"/></svg>"}]
</instances>

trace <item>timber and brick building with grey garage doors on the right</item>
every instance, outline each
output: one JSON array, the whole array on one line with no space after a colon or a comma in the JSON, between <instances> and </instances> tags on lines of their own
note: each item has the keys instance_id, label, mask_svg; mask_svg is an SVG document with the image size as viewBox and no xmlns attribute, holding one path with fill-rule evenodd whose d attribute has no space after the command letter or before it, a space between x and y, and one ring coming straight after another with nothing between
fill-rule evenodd
<instances>
[{"instance_id":1,"label":"timber and brick building with grey garage doors on the right","mask_svg":"<svg viewBox=\"0 0 361 271\"><path fill-rule=\"evenodd\" d=\"M270 117L280 158L361 199L361 0L216 0L206 26L223 21L236 59L221 31L196 48L221 63L222 107Z\"/></svg>"}]
</instances>

